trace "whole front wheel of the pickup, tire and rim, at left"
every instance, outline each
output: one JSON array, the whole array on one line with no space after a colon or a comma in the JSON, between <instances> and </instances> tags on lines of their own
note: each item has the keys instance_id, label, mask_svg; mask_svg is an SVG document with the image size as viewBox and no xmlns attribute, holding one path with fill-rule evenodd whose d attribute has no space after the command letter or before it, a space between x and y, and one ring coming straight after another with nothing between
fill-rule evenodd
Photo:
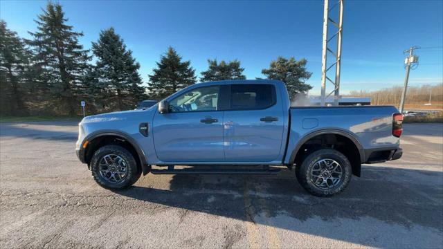
<instances>
[{"instance_id":1,"label":"whole front wheel of the pickup, tire and rim, at left","mask_svg":"<svg viewBox=\"0 0 443 249\"><path fill-rule=\"evenodd\" d=\"M129 187L141 175L134 156L118 145L100 147L91 159L91 172L98 184L110 189Z\"/></svg>"}]
</instances>

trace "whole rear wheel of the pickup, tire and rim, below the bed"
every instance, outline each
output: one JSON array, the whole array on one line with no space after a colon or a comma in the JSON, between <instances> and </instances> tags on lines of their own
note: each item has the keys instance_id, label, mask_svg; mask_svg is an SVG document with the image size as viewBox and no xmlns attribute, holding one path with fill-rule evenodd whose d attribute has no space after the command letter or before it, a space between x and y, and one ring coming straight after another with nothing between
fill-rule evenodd
<instances>
[{"instance_id":1,"label":"whole rear wheel of the pickup, tire and rim, below the bed","mask_svg":"<svg viewBox=\"0 0 443 249\"><path fill-rule=\"evenodd\" d=\"M352 176L346 156L335 149L320 149L296 165L298 182L315 196L329 197L345 190Z\"/></svg>"}]
</instances>

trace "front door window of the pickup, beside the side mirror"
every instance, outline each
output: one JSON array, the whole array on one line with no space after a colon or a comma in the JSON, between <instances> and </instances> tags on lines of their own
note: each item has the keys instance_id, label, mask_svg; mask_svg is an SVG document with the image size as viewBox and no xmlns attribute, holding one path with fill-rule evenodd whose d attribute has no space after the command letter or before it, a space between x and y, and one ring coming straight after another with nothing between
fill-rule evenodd
<instances>
[{"instance_id":1,"label":"front door window of the pickup, beside the side mirror","mask_svg":"<svg viewBox=\"0 0 443 249\"><path fill-rule=\"evenodd\" d=\"M220 86L204 86L183 93L169 102L170 112L217 111Z\"/></svg>"}]
</instances>

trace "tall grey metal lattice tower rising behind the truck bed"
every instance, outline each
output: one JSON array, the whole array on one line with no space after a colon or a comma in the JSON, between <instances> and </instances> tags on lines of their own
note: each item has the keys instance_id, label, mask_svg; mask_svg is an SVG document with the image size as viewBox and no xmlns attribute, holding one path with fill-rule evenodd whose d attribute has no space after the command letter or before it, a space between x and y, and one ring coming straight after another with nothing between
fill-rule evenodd
<instances>
[{"instance_id":1,"label":"tall grey metal lattice tower rising behind the truck bed","mask_svg":"<svg viewBox=\"0 0 443 249\"><path fill-rule=\"evenodd\" d=\"M329 17L329 12L338 7L338 22ZM337 28L336 33L331 37L327 37L328 24L333 24ZM329 8L329 0L325 0L324 17L323 17L323 53L321 66L321 105L325 105L325 100L334 93L334 105L338 105L340 99L340 67L341 67L341 39L343 33L343 0L338 0L334 6ZM336 50L329 48L329 44L336 38ZM334 55L335 62L327 67L327 54ZM334 80L327 77L327 71L335 66ZM326 80L334 85L334 90L326 95Z\"/></svg>"}]
</instances>

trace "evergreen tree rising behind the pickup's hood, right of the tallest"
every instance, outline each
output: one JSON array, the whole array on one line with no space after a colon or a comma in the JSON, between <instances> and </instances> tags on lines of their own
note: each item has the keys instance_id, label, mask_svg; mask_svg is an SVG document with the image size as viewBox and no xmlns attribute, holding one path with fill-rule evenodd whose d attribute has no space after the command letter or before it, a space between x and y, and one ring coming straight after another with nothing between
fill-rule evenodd
<instances>
[{"instance_id":1,"label":"evergreen tree rising behind the pickup's hood, right of the tallest","mask_svg":"<svg viewBox=\"0 0 443 249\"><path fill-rule=\"evenodd\" d=\"M140 64L114 28L103 30L98 42L92 43L92 50L98 61L90 79L94 82L91 89L96 90L96 100L102 107L125 110L143 100L145 87L138 74Z\"/></svg>"}]
</instances>

